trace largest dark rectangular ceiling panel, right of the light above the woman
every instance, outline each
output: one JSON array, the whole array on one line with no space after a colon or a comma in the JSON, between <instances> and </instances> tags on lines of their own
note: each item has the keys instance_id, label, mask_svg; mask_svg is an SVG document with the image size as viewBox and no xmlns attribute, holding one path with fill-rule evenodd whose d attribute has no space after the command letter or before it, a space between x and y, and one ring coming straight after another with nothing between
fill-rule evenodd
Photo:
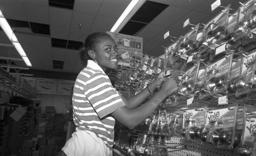
<instances>
[{"instance_id":1,"label":"largest dark rectangular ceiling panel, right of the light above the woman","mask_svg":"<svg viewBox=\"0 0 256 156\"><path fill-rule=\"evenodd\" d=\"M167 7L166 4L146 1L119 33L136 35Z\"/></svg>"}]
</instances>

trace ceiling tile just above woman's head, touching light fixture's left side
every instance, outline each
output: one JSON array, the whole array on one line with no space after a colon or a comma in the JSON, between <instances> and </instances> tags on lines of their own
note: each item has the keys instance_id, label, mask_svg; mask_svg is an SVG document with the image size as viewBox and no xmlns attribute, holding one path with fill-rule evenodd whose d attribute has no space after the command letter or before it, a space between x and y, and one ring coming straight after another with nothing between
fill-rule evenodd
<instances>
[{"instance_id":1,"label":"ceiling tile just above woman's head, touching light fixture's left side","mask_svg":"<svg viewBox=\"0 0 256 156\"><path fill-rule=\"evenodd\" d=\"M92 25L92 28L91 28L91 32L110 31L110 29L114 26L116 20L117 20L116 18L96 16L94 23Z\"/></svg>"}]
</instances>

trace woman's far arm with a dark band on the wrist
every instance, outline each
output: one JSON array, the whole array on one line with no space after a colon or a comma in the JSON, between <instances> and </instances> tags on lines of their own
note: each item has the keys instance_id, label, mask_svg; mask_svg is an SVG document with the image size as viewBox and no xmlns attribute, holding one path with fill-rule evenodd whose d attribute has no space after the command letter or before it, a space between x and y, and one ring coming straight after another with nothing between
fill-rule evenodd
<instances>
[{"instance_id":1,"label":"woman's far arm with a dark band on the wrist","mask_svg":"<svg viewBox=\"0 0 256 156\"><path fill-rule=\"evenodd\" d=\"M148 85L148 90L150 90L151 92L154 91L158 86L160 86L163 81L165 81L167 78L163 78L164 77L164 72L160 73L158 75L158 77L151 83ZM147 88L144 88L144 90L142 90L139 94L130 97L130 98L125 98L122 97L123 102L125 103L125 105L130 108L136 108L138 107L142 102L144 102L144 100L150 96L150 92L147 90Z\"/></svg>"}]
</instances>

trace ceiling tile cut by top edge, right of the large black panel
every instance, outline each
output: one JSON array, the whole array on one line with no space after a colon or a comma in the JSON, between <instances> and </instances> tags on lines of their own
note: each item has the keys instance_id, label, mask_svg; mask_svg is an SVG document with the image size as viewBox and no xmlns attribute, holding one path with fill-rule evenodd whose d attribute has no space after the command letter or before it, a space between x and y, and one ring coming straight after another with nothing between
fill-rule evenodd
<instances>
[{"instance_id":1,"label":"ceiling tile cut by top edge, right of the large black panel","mask_svg":"<svg viewBox=\"0 0 256 156\"><path fill-rule=\"evenodd\" d=\"M173 3L173 6L186 9L194 9L204 2L205 0L178 0Z\"/></svg>"}]
</instances>

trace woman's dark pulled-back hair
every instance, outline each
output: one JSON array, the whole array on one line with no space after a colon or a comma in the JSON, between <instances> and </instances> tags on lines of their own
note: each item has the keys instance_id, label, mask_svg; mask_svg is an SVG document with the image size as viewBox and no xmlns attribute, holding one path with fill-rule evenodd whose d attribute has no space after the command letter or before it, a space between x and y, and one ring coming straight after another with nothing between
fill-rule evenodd
<instances>
[{"instance_id":1,"label":"woman's dark pulled-back hair","mask_svg":"<svg viewBox=\"0 0 256 156\"><path fill-rule=\"evenodd\" d=\"M102 33L102 32L95 32L91 33L89 36L87 36L86 41L83 43L83 48L79 52L80 59L82 61L82 65L84 67L87 66L87 61L88 60L93 60L89 54L89 50L95 50L96 49L96 44L99 42L98 38L102 36L109 36L107 33Z\"/></svg>"}]
</instances>

